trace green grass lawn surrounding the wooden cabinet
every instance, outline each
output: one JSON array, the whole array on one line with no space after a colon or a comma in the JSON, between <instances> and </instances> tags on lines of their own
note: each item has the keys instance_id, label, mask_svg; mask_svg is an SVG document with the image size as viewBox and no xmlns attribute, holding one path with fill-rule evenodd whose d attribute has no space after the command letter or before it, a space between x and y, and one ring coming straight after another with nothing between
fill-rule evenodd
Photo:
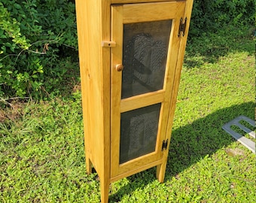
<instances>
[{"instance_id":1,"label":"green grass lawn surrounding the wooden cabinet","mask_svg":"<svg viewBox=\"0 0 256 203\"><path fill-rule=\"evenodd\" d=\"M243 34L189 41L165 182L156 168L123 178L111 183L110 202L256 201L255 154L221 129L239 115L254 119L254 41ZM99 202L97 174L85 172L79 91L1 107L0 202Z\"/></svg>"}]
</instances>

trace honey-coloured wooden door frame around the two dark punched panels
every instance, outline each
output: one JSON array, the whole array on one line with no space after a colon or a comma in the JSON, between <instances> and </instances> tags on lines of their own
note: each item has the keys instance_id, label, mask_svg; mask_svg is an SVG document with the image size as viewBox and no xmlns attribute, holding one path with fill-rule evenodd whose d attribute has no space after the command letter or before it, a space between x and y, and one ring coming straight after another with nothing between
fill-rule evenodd
<instances>
[{"instance_id":1,"label":"honey-coloured wooden door frame around the two dark punched panels","mask_svg":"<svg viewBox=\"0 0 256 203\"><path fill-rule=\"evenodd\" d=\"M172 92L172 85L175 76L175 66L178 59L178 49L180 38L175 33L178 33L179 22L183 17L185 2L160 2L157 4L133 4L133 5L118 5L112 6L112 29L111 40L116 41L117 47L111 49L112 63L118 64L123 56L123 24L140 23L156 20L172 20L171 36L169 41L169 53L166 62L166 77L163 89L157 92L150 92L143 95L137 95L131 98L120 100L121 74L117 73L112 68L112 83L111 83L111 122L120 123L120 113L124 111L131 111L133 109L142 108L148 105L154 105L159 102L162 103L160 111L160 123L157 134L157 148L154 153L140 156L130 162L119 164L120 151L120 136L111 136L111 177L120 176L122 174L132 174L134 168L140 170L147 169L149 162L156 162L163 164L163 151L160 143L166 137L166 126L169 117L169 97ZM154 12L152 12L154 8ZM166 9L167 8L167 9ZM166 10L165 10L166 9ZM168 11L168 12L167 12ZM111 125L111 135L118 135L120 133L120 125ZM138 170L136 170L137 172Z\"/></svg>"}]
</instances>

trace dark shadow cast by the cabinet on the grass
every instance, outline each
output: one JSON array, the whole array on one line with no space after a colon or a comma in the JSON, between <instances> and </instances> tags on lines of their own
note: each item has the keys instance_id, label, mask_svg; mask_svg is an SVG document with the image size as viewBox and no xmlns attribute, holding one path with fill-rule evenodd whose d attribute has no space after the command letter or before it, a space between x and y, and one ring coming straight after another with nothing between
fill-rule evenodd
<instances>
[{"instance_id":1,"label":"dark shadow cast by the cabinet on the grass","mask_svg":"<svg viewBox=\"0 0 256 203\"><path fill-rule=\"evenodd\" d=\"M189 168L190 165L194 165L206 155L211 156L231 144L234 139L221 127L239 115L253 119L254 103L247 102L223 108L186 126L173 129L165 181L171 180L172 177ZM155 174L156 169L150 168L127 177L130 183L110 195L109 202L120 201L123 195L130 194L139 187L147 186L156 180Z\"/></svg>"}]
</instances>

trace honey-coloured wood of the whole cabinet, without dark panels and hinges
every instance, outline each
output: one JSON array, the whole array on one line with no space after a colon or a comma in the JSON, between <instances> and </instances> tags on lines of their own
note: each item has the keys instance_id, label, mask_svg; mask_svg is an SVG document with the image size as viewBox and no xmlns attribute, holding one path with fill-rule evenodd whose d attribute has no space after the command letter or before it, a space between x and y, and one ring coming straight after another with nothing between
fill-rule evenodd
<instances>
[{"instance_id":1,"label":"honey-coloured wood of the whole cabinet, without dark panels and hinges","mask_svg":"<svg viewBox=\"0 0 256 203\"><path fill-rule=\"evenodd\" d=\"M157 179L164 180L192 5L193 0L76 0L86 167L99 174L102 202L108 202L111 182L139 171L157 166ZM185 35L178 37L185 17ZM172 20L163 89L121 99L123 25L158 20ZM155 104L161 104L155 150L120 164L120 114Z\"/></svg>"}]
</instances>

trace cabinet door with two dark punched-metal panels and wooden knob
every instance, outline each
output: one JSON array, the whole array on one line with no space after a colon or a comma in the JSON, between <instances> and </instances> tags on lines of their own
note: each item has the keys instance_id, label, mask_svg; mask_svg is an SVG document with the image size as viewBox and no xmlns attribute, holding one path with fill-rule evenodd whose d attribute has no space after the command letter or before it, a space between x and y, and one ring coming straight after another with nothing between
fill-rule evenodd
<instances>
[{"instance_id":1,"label":"cabinet door with two dark punched-metal panels and wooden knob","mask_svg":"<svg viewBox=\"0 0 256 203\"><path fill-rule=\"evenodd\" d=\"M111 177L160 165L185 2L111 6Z\"/></svg>"}]
</instances>

